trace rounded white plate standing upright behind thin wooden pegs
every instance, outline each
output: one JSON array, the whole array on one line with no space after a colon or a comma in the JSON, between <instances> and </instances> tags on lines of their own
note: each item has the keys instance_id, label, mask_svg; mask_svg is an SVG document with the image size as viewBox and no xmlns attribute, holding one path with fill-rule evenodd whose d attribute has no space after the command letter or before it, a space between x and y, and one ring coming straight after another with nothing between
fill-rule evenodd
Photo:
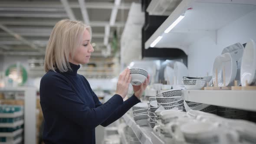
<instances>
[{"instance_id":1,"label":"rounded white plate standing upright behind thin wooden pegs","mask_svg":"<svg viewBox=\"0 0 256 144\"><path fill-rule=\"evenodd\" d=\"M226 85L230 86L233 84L233 81L236 78L236 60L233 59L230 53L224 53L221 56L217 56L214 63L213 63L213 82L216 81L216 69L218 73L218 86L223 86L223 67L225 67L225 76L226 76ZM215 84L216 85L216 84ZM214 85L214 86L215 86Z\"/></svg>"}]
</instances>

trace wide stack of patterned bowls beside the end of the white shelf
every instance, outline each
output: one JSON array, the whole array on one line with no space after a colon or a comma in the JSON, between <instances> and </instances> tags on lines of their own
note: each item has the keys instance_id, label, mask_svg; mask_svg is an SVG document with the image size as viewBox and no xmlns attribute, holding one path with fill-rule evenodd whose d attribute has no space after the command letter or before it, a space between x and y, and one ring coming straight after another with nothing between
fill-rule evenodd
<instances>
[{"instance_id":1,"label":"wide stack of patterned bowls beside the end of the white shelf","mask_svg":"<svg viewBox=\"0 0 256 144\"><path fill-rule=\"evenodd\" d=\"M177 107L183 110L183 100L182 100L181 89L171 89L157 94L158 105L162 105L164 109L172 109Z\"/></svg>"}]
</instances>

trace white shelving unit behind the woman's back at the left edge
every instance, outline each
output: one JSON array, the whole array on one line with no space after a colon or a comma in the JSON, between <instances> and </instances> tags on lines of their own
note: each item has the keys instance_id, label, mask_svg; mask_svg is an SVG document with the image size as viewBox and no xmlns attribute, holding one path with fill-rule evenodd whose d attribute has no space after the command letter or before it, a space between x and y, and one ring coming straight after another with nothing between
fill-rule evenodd
<instances>
[{"instance_id":1,"label":"white shelving unit behind the woman's back at the left edge","mask_svg":"<svg viewBox=\"0 0 256 144\"><path fill-rule=\"evenodd\" d=\"M0 127L16 127L24 124L24 144L36 144L36 88L16 87L0 88L0 92L24 92L24 121L17 121L12 124L0 124ZM19 115L19 114L15 114ZM17 144L22 141L22 137L12 142L0 144Z\"/></svg>"}]
</instances>

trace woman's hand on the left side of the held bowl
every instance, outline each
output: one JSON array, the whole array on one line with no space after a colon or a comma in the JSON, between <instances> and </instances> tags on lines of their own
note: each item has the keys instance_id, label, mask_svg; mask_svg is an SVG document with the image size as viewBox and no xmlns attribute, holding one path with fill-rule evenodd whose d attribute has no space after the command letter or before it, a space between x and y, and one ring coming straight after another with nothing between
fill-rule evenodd
<instances>
[{"instance_id":1,"label":"woman's hand on the left side of the held bowl","mask_svg":"<svg viewBox=\"0 0 256 144\"><path fill-rule=\"evenodd\" d=\"M131 82L130 69L126 68L119 75L117 86L116 86L116 94L121 95L122 98L128 93L129 84Z\"/></svg>"}]
</instances>

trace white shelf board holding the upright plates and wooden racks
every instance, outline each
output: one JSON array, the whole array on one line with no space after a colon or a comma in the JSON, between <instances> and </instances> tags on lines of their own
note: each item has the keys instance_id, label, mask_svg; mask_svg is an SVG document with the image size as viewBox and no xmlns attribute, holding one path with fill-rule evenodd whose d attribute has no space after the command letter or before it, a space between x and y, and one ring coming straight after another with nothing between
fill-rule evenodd
<instances>
[{"instance_id":1,"label":"white shelf board holding the upright plates and wooden racks","mask_svg":"<svg viewBox=\"0 0 256 144\"><path fill-rule=\"evenodd\" d=\"M256 111L256 91L189 90L182 95L186 101Z\"/></svg>"}]
</instances>

